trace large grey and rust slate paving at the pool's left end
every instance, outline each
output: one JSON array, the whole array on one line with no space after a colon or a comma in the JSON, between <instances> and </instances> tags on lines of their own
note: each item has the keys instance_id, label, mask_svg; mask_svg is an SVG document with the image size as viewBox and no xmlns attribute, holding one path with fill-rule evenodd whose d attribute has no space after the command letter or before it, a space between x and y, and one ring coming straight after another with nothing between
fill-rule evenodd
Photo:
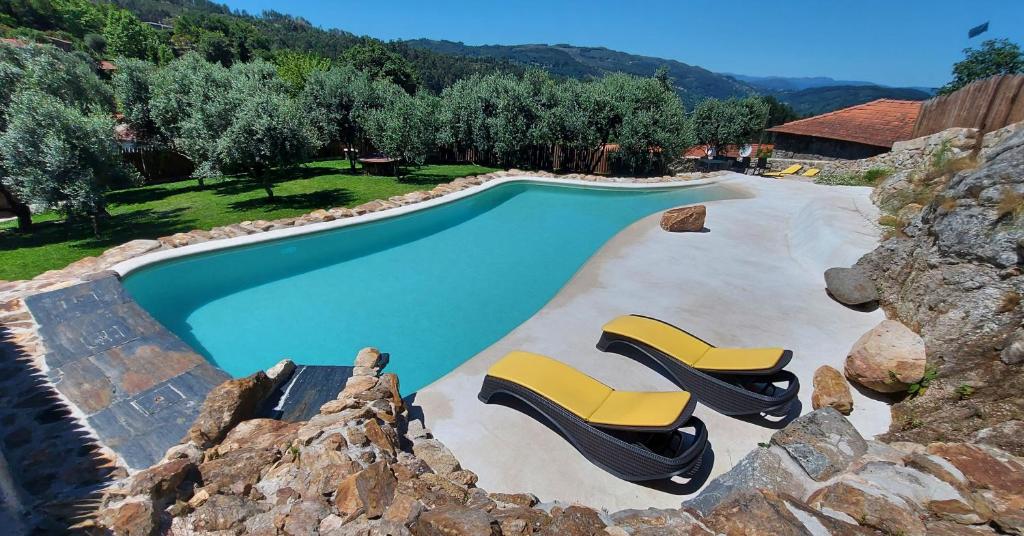
<instances>
[{"instance_id":1,"label":"large grey and rust slate paving at the pool's left end","mask_svg":"<svg viewBox=\"0 0 1024 536\"><path fill-rule=\"evenodd\" d=\"M229 379L129 296L116 276L26 298L49 379L132 468L177 444Z\"/></svg>"}]
</instances>

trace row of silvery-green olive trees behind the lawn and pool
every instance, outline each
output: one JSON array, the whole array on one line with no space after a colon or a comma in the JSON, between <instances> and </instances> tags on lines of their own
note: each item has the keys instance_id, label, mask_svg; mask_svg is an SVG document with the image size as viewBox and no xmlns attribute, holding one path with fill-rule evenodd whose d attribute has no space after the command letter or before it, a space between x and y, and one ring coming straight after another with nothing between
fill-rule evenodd
<instances>
[{"instance_id":1,"label":"row of silvery-green olive trees behind the lawn and pool","mask_svg":"<svg viewBox=\"0 0 1024 536\"><path fill-rule=\"evenodd\" d=\"M114 139L115 108L136 136L188 158L200 185L244 174L270 198L276 177L332 145L373 148L403 165L444 153L529 168L550 166L555 146L587 153L614 142L618 171L647 174L694 142L745 140L767 113L750 97L708 100L688 118L664 76L490 73L434 94L411 92L386 65L360 70L301 53L230 67L197 52L163 65L119 58L109 83L83 53L3 45L0 59L0 193L23 229L29 206L95 219L104 190L137 181Z\"/></svg>"}]
</instances>

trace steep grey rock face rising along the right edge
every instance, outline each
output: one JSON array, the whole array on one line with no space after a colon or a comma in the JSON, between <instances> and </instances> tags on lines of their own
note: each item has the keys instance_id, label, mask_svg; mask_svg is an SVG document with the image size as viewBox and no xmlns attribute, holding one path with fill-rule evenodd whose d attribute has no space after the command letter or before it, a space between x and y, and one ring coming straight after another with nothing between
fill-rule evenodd
<instances>
[{"instance_id":1,"label":"steep grey rock face rising along the right edge","mask_svg":"<svg viewBox=\"0 0 1024 536\"><path fill-rule=\"evenodd\" d=\"M894 408L890 438L995 437L1022 454L1024 129L991 134L976 168L881 184L876 201L899 221L858 265L890 317L921 333L938 374Z\"/></svg>"}]
</instances>

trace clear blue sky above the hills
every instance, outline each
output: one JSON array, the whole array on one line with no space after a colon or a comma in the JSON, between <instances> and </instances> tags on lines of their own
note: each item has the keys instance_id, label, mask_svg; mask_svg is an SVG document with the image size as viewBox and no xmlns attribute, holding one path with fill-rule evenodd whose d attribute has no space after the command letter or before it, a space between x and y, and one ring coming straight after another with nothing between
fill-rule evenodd
<instances>
[{"instance_id":1,"label":"clear blue sky above the hills","mask_svg":"<svg viewBox=\"0 0 1024 536\"><path fill-rule=\"evenodd\" d=\"M569 43L678 59L716 72L829 76L939 86L962 49L1024 45L1024 0L227 0L379 39ZM990 20L968 40L969 28Z\"/></svg>"}]
</instances>

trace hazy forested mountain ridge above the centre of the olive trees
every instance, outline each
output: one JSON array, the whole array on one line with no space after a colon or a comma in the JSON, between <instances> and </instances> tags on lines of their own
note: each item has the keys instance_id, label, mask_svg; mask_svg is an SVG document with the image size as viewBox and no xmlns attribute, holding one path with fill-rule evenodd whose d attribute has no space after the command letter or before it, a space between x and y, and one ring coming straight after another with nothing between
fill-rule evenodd
<instances>
[{"instance_id":1,"label":"hazy forested mountain ridge above the centre of the olive trees","mask_svg":"<svg viewBox=\"0 0 1024 536\"><path fill-rule=\"evenodd\" d=\"M687 107L707 97L728 98L757 93L754 86L713 73L707 69L645 55L630 54L603 47L557 45L466 45L455 41L415 39L403 41L414 48L423 48L442 54L470 57L487 57L512 64L537 67L556 76L569 78L599 77L605 73L628 73L653 76L665 66L674 80L679 95Z\"/></svg>"}]
</instances>

